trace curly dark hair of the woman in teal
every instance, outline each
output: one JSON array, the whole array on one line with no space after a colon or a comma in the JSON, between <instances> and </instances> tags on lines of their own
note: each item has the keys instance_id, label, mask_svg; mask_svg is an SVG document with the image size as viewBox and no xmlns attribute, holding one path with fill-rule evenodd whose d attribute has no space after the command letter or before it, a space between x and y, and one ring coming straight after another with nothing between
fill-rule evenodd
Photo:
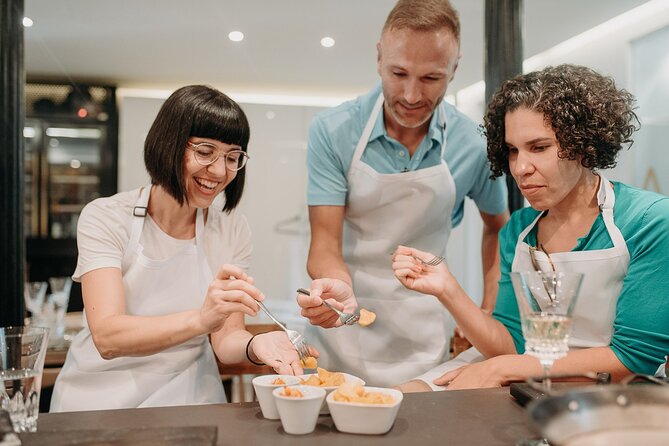
<instances>
[{"instance_id":1,"label":"curly dark hair of the woman in teal","mask_svg":"<svg viewBox=\"0 0 669 446\"><path fill-rule=\"evenodd\" d=\"M547 67L504 82L483 120L491 178L509 174L507 113L519 108L543 113L555 131L560 158L580 158L588 169L606 169L616 165L618 153L624 145L631 146L631 136L639 129L634 102L612 78L578 65Z\"/></svg>"}]
</instances>

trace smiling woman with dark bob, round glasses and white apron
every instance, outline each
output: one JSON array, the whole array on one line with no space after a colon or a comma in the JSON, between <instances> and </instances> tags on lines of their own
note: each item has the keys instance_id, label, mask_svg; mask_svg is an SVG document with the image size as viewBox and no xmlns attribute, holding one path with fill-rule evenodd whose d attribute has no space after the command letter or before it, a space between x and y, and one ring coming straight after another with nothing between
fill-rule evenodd
<instances>
[{"instance_id":1,"label":"smiling woman with dark bob, round glasses and white apron","mask_svg":"<svg viewBox=\"0 0 669 446\"><path fill-rule=\"evenodd\" d=\"M302 373L285 333L251 336L244 326L264 299L245 272L251 233L235 211L249 133L223 93L180 88L146 137L151 184L82 211L73 279L85 324L51 411L225 402L216 357ZM212 206L221 193L223 209Z\"/></svg>"}]
</instances>

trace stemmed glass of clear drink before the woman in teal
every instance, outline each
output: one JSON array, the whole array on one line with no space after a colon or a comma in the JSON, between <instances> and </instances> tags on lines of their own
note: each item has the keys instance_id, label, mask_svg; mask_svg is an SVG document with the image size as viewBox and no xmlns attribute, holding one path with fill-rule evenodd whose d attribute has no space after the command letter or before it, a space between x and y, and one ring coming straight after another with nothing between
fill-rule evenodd
<instances>
[{"instance_id":1,"label":"stemmed glass of clear drink before the woman in teal","mask_svg":"<svg viewBox=\"0 0 669 446\"><path fill-rule=\"evenodd\" d=\"M525 353L539 359L546 388L551 385L548 374L553 362L569 351L571 317L582 281L583 274L577 272L511 273Z\"/></svg>"}]
</instances>

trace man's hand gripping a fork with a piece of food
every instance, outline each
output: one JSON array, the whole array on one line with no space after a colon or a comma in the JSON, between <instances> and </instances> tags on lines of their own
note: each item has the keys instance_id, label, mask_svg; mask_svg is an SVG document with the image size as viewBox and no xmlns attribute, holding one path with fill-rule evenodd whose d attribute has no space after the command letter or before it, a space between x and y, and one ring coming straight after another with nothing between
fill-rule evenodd
<instances>
[{"instance_id":1,"label":"man's hand gripping a fork with a piece of food","mask_svg":"<svg viewBox=\"0 0 669 446\"><path fill-rule=\"evenodd\" d=\"M323 328L339 327L341 320L334 311L323 305L327 300L338 310L353 313L358 308L351 286L339 279L316 279L311 282L310 295L297 294L297 304L302 307L302 316L312 325Z\"/></svg>"}]
</instances>

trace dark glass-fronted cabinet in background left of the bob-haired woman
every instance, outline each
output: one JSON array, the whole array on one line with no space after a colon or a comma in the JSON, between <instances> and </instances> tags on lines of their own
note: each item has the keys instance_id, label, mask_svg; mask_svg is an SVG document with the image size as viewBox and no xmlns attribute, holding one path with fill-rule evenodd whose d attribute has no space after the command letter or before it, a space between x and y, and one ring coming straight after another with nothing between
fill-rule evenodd
<instances>
[{"instance_id":1,"label":"dark glass-fronted cabinet in background left of the bob-haired woman","mask_svg":"<svg viewBox=\"0 0 669 446\"><path fill-rule=\"evenodd\" d=\"M69 276L83 207L116 193L118 113L111 86L26 84L25 207L28 280ZM71 309L80 309L73 286Z\"/></svg>"}]
</instances>

